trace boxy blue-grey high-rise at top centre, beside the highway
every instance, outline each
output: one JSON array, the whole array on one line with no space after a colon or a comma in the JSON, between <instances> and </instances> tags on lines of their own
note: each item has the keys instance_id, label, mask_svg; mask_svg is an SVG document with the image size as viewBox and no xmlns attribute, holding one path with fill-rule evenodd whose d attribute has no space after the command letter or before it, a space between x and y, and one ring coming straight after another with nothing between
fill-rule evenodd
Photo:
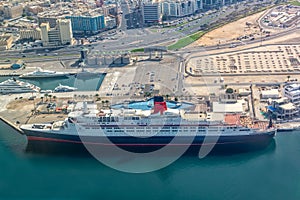
<instances>
[{"instance_id":1,"label":"boxy blue-grey high-rise at top centre, beside the highway","mask_svg":"<svg viewBox=\"0 0 300 200\"><path fill-rule=\"evenodd\" d=\"M144 3L142 15L144 23L159 23L161 21L160 3Z\"/></svg>"}]
</instances>

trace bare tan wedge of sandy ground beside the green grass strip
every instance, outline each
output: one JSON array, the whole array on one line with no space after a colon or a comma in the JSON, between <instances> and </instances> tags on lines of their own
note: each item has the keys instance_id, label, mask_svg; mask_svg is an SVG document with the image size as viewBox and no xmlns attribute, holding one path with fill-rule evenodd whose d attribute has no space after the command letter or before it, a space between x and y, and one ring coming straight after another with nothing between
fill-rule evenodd
<instances>
[{"instance_id":1,"label":"bare tan wedge of sandy ground beside the green grass strip","mask_svg":"<svg viewBox=\"0 0 300 200\"><path fill-rule=\"evenodd\" d=\"M239 19L235 22L226 24L218 29L215 29L199 40L191 44L189 47L193 46L209 46L209 45L217 45L224 44L228 42L236 41L237 37L249 35L249 34L258 34L260 36L260 27L257 23L258 19L265 13L266 11ZM246 26L246 22L251 23L250 26ZM258 36L258 35L254 35Z\"/></svg>"}]
</instances>

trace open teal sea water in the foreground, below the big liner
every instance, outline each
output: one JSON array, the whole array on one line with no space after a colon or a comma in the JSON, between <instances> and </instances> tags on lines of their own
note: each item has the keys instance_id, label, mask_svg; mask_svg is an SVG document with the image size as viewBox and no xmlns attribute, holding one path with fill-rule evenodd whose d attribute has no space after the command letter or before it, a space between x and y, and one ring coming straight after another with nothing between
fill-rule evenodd
<instances>
[{"instance_id":1,"label":"open teal sea water in the foreground, below the big liner","mask_svg":"<svg viewBox=\"0 0 300 200\"><path fill-rule=\"evenodd\" d=\"M280 133L262 151L129 174L92 157L24 152L25 137L0 123L0 199L300 199L299 141Z\"/></svg>"}]
</instances>

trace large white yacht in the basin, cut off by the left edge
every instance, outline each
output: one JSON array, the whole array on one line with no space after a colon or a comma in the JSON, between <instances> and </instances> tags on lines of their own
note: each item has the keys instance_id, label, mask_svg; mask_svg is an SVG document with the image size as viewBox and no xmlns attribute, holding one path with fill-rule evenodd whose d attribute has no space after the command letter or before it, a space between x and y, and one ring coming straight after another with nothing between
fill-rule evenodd
<instances>
[{"instance_id":1,"label":"large white yacht in the basin, cut off by the left edge","mask_svg":"<svg viewBox=\"0 0 300 200\"><path fill-rule=\"evenodd\" d=\"M16 80L15 78L0 83L1 94L39 92L40 90L39 87L31 83Z\"/></svg>"}]
</instances>

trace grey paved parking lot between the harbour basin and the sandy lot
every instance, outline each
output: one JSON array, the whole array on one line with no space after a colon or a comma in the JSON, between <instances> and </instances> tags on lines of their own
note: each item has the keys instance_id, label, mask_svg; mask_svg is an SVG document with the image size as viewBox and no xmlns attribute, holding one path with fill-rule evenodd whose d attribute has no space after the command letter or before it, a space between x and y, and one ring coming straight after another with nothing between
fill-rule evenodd
<instances>
[{"instance_id":1,"label":"grey paved parking lot between the harbour basin and the sandy lot","mask_svg":"<svg viewBox=\"0 0 300 200\"><path fill-rule=\"evenodd\" d=\"M114 69L99 89L104 96L144 97L151 94L173 94L178 89L179 61L139 61L135 66Z\"/></svg>"}]
</instances>

